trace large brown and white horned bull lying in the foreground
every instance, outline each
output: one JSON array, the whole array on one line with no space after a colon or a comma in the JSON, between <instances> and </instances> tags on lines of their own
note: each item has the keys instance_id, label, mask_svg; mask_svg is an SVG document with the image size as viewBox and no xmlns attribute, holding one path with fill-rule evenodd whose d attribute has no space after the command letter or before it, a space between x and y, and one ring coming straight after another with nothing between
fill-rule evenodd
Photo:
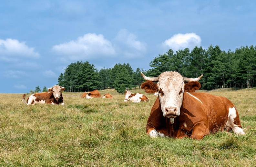
<instances>
[{"instance_id":1,"label":"large brown and white horned bull lying in the foreground","mask_svg":"<svg viewBox=\"0 0 256 167\"><path fill-rule=\"evenodd\" d=\"M172 71L152 78L141 75L152 81L141 86L159 93L148 117L146 132L149 136L202 139L223 130L244 134L238 112L230 100L195 92L201 87L198 81L202 75L194 79Z\"/></svg>"}]
</instances>

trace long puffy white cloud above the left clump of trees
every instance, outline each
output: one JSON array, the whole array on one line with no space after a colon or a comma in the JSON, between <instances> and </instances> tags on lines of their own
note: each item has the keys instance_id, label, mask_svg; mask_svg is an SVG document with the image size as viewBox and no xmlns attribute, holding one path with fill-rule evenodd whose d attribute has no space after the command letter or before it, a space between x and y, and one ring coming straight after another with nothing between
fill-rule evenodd
<instances>
[{"instance_id":1,"label":"long puffy white cloud above the left clump of trees","mask_svg":"<svg viewBox=\"0 0 256 167\"><path fill-rule=\"evenodd\" d=\"M85 34L76 41L54 45L52 48L58 54L66 55L71 60L94 59L100 56L116 54L110 41L102 34Z\"/></svg>"}]
</instances>

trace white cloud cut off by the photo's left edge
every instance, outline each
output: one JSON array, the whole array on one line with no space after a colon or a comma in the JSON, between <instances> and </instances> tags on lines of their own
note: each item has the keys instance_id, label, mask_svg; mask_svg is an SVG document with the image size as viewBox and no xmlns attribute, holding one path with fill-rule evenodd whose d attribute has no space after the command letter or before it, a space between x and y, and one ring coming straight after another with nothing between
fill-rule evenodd
<instances>
[{"instance_id":1,"label":"white cloud cut off by the photo's left edge","mask_svg":"<svg viewBox=\"0 0 256 167\"><path fill-rule=\"evenodd\" d=\"M19 42L16 39L0 39L0 56L1 59L5 59L5 56L38 58L40 54L35 52L34 48L28 47L25 42Z\"/></svg>"}]
</instances>

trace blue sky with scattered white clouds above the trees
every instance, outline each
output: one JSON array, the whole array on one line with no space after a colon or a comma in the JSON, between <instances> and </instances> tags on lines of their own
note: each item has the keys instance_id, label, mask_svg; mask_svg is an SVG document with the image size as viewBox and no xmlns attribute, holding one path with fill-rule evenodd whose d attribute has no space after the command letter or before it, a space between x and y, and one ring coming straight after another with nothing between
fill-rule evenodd
<instances>
[{"instance_id":1,"label":"blue sky with scattered white clouds above the trees","mask_svg":"<svg viewBox=\"0 0 256 167\"><path fill-rule=\"evenodd\" d=\"M169 49L256 45L256 1L1 0L0 93L57 84L77 61L148 70Z\"/></svg>"}]
</instances>

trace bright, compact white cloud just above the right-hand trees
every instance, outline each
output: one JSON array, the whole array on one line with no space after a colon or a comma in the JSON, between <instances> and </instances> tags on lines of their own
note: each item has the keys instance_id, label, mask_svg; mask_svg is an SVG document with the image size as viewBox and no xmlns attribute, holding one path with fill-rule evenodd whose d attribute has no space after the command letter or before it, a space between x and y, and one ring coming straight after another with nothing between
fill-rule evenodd
<instances>
[{"instance_id":1,"label":"bright, compact white cloud just above the right-hand trees","mask_svg":"<svg viewBox=\"0 0 256 167\"><path fill-rule=\"evenodd\" d=\"M172 49L173 51L185 48L193 50L195 46L200 46L201 42L201 37L195 33L175 34L171 38L165 40L162 43L162 46L164 49Z\"/></svg>"}]
</instances>

